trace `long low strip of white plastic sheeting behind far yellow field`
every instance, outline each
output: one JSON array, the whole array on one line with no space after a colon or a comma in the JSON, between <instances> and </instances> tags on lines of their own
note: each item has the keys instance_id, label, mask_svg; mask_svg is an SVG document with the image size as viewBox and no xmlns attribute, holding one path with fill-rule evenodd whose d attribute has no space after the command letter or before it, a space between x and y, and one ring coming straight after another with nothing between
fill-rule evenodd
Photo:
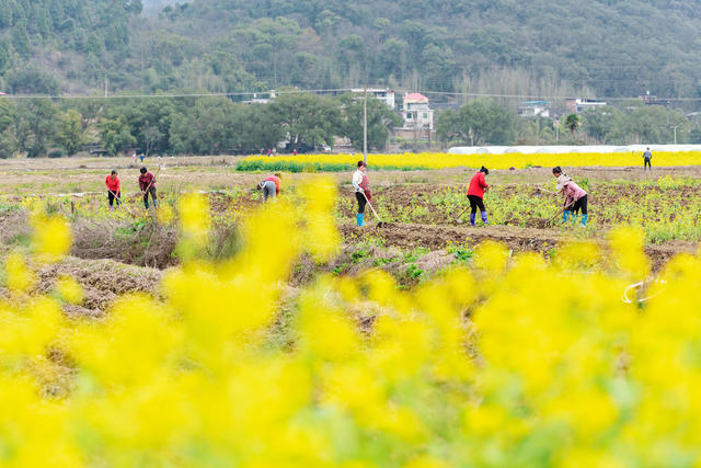
<instances>
[{"instance_id":1,"label":"long low strip of white plastic sheeting behind far yellow field","mask_svg":"<svg viewBox=\"0 0 701 468\"><path fill-rule=\"evenodd\" d=\"M646 148L654 151L685 152L701 151L701 145L589 145L589 146L457 146L448 150L449 155L562 155L571 152L643 152Z\"/></svg>"}]
</instances>

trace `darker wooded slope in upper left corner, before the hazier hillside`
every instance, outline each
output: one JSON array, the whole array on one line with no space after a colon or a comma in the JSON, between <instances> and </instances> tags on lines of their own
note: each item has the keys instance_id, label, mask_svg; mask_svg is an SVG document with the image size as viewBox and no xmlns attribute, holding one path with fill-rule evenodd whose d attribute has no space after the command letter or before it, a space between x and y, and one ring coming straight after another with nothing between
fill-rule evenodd
<instances>
[{"instance_id":1,"label":"darker wooded slope in upper left corner, before the hazier hillside","mask_svg":"<svg viewBox=\"0 0 701 468\"><path fill-rule=\"evenodd\" d=\"M96 85L128 56L141 10L140 0L0 0L0 84L12 93Z\"/></svg>"}]
</instances>

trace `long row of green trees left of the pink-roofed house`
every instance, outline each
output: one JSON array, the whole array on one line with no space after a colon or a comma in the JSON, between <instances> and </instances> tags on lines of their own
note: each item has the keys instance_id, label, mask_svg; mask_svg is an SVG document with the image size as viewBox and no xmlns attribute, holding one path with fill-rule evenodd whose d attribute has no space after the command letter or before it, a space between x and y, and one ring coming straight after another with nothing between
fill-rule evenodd
<instances>
[{"instance_id":1,"label":"long row of green trees left of the pink-roofed house","mask_svg":"<svg viewBox=\"0 0 701 468\"><path fill-rule=\"evenodd\" d=\"M382 149L401 119L368 98L368 146ZM283 91L268 104L228 98L0 99L0 157L71 156L85 148L115 156L127 149L158 155L253 153L333 146L346 137L363 146L363 101Z\"/></svg>"}]
</instances>

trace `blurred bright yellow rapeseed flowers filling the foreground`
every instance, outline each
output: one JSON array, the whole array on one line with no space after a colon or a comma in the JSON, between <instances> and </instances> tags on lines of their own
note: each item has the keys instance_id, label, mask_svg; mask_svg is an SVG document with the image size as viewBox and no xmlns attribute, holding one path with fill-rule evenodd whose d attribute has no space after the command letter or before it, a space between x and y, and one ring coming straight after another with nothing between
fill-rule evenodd
<instances>
[{"instance_id":1,"label":"blurred bright yellow rapeseed flowers filling the foreground","mask_svg":"<svg viewBox=\"0 0 701 468\"><path fill-rule=\"evenodd\" d=\"M333 191L315 181L306 203L253 215L242 251L219 264L196 260L206 204L185 199L188 254L163 298L123 297L104 321L62 315L62 301L81 298L70 278L48 297L26 295L32 269L11 255L0 464L698 463L701 259L671 261L643 305L622 300L648 274L630 230L611 236L608 271L589 271L605 254L590 244L563 248L552 264L484 244L473 270L411 293L377 271L290 293L300 254L323 262L338 246ZM55 261L65 242L43 229L67 239L68 227L35 225L33 262Z\"/></svg>"}]
</instances>

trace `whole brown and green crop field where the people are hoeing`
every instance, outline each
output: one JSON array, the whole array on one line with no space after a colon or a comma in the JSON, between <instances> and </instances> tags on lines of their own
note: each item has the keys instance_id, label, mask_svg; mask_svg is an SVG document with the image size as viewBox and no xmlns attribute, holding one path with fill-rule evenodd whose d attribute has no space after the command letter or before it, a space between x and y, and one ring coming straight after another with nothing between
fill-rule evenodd
<instances>
[{"instance_id":1,"label":"whole brown and green crop field where the people are hoeing","mask_svg":"<svg viewBox=\"0 0 701 468\"><path fill-rule=\"evenodd\" d=\"M209 202L217 235L208 255L217 259L235 251L237 224L262 204L253 190L266 174L237 173L237 158L163 158L145 163L158 171L162 203L175 206L180 193L218 191ZM163 271L179 263L176 229L158 226L146 216L138 196L138 167L130 159L0 160L0 241L2 251L26 249L31 230L22 206L27 196L44 198L72 224L73 256L38 272L35 292L50 289L59 274L81 283L85 300L66 312L101 317L111 300L125 292L158 294ZM160 171L159 171L159 168ZM127 206L119 218L105 210L104 179L119 171ZM571 240L590 240L606 249L606 232L620 222L646 229L646 253L659 271L676 253L696 252L701 227L701 168L566 169L589 193L591 226L562 228L559 199L550 168L493 171L485 197L487 227L470 227L456 219L467 206L464 190L472 169L370 172L380 215L389 222L358 228L349 173L330 173L338 185L335 216L344 239L342 253L327 264L300 259L291 285L311 281L320 271L356 274L371 267L392 273L402 287L439 274L455 263L470 264L472 250L485 240L504 243L514 253L532 251L549 259ZM670 175L670 186L659 179ZM296 197L296 187L318 174L284 174L283 196ZM540 189L544 189L540 190ZM94 193L93 193L94 192ZM80 193L76 195L76 193ZM57 196L56 194L62 194ZM73 194L73 195L70 195ZM553 218L554 222L549 222ZM461 224L462 222L462 224Z\"/></svg>"}]
</instances>

